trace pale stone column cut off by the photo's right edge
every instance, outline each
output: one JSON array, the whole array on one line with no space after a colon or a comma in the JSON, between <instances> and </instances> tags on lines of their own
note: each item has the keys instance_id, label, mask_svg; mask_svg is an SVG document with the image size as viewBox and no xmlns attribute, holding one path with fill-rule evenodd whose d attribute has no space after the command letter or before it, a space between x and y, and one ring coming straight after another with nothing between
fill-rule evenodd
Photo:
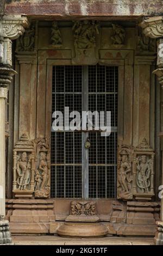
<instances>
[{"instance_id":1,"label":"pale stone column cut off by the photo's right edge","mask_svg":"<svg viewBox=\"0 0 163 256\"><path fill-rule=\"evenodd\" d=\"M158 47L158 56L157 56L157 66L158 69L153 71L153 74L158 76L158 81L161 84L163 89L163 16L151 17L145 19L140 23L140 26L143 29L143 33L150 38L156 38L157 47ZM163 132L160 133L160 136L163 137ZM162 184L163 185L163 155L162 155ZM158 191L159 193L159 191ZM156 245L163 245L163 193L161 197L161 212L160 212L160 221L156 222L156 234L154 237L154 242Z\"/></svg>"}]
</instances>

